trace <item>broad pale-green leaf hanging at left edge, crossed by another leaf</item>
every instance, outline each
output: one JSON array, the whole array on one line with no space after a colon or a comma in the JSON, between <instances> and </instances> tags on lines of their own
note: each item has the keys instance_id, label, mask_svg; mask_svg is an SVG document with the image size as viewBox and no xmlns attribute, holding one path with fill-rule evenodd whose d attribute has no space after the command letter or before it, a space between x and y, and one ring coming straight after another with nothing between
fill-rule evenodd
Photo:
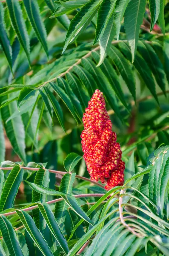
<instances>
[{"instance_id":1,"label":"broad pale-green leaf hanging at left edge, crossed by another leaf","mask_svg":"<svg viewBox=\"0 0 169 256\"><path fill-rule=\"evenodd\" d=\"M6 120L17 111L16 102L11 102L8 106L1 109L1 116L4 123L6 134L11 142L14 151L18 154L21 160L26 164L25 154L25 131L23 122L20 116L11 119L8 124Z\"/></svg>"}]
</instances>

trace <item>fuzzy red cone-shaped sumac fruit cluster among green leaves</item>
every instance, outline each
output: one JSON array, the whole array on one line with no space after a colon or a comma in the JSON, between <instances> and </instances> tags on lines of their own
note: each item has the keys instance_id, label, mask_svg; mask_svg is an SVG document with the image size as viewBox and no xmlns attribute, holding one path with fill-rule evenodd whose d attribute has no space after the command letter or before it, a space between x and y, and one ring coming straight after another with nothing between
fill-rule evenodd
<instances>
[{"instance_id":1,"label":"fuzzy red cone-shaped sumac fruit cluster among green leaves","mask_svg":"<svg viewBox=\"0 0 169 256\"><path fill-rule=\"evenodd\" d=\"M106 111L103 93L95 90L83 114L82 149L91 180L106 182L105 189L121 186L125 164L121 160L120 144L112 132L112 122Z\"/></svg>"}]
</instances>

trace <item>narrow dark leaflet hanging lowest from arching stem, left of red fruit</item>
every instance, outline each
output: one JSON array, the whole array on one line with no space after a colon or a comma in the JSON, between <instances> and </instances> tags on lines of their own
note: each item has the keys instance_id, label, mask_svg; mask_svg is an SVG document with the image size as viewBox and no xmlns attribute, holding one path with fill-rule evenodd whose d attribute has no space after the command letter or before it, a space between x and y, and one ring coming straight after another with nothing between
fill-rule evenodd
<instances>
[{"instance_id":1,"label":"narrow dark leaflet hanging lowest from arching stem, left of red fruit","mask_svg":"<svg viewBox=\"0 0 169 256\"><path fill-rule=\"evenodd\" d=\"M52 104L52 107L54 109L54 113L56 114L57 119L58 119L61 127L63 128L63 131L66 132L65 127L64 127L64 121L63 121L63 112L62 112L62 109L60 108L59 103L57 102L53 93L47 87L44 87L44 89L45 89L46 95L48 96L48 98L49 98L49 100Z\"/></svg>"}]
</instances>

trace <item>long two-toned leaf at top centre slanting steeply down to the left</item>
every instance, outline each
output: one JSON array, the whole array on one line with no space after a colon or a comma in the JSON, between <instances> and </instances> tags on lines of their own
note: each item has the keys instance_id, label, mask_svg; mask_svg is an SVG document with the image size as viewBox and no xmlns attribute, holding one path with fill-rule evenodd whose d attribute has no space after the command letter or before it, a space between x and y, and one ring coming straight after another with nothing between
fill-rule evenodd
<instances>
[{"instance_id":1,"label":"long two-toned leaf at top centre slanting steeply down to the left","mask_svg":"<svg viewBox=\"0 0 169 256\"><path fill-rule=\"evenodd\" d=\"M73 42L89 25L92 18L95 16L101 0L92 0L83 6L79 12L71 20L66 39L63 47L63 52L66 50L68 44Z\"/></svg>"}]
</instances>

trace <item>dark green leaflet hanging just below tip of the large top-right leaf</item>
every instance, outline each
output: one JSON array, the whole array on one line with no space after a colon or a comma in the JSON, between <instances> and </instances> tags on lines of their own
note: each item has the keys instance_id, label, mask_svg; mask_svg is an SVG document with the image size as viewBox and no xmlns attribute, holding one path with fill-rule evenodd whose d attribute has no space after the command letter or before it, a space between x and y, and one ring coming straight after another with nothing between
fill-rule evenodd
<instances>
[{"instance_id":1,"label":"dark green leaflet hanging just below tip of the large top-right leaf","mask_svg":"<svg viewBox=\"0 0 169 256\"><path fill-rule=\"evenodd\" d=\"M123 56L123 54L114 46L112 46L108 52L109 57L115 63L120 75L123 77L126 82L129 92L132 94L134 100L136 101L136 86L135 86L135 77L133 75L132 67L129 62Z\"/></svg>"}]
</instances>

